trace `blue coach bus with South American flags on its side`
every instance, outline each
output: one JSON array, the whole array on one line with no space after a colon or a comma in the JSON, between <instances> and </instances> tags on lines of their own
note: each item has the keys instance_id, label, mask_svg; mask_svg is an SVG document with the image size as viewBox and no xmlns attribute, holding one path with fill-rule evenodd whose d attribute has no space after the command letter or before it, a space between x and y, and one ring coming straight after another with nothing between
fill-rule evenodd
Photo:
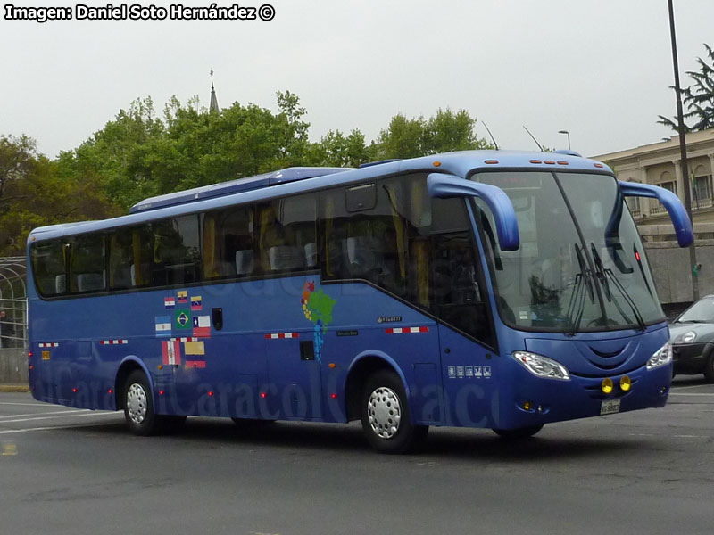
<instances>
[{"instance_id":1,"label":"blue coach bus with South American flags on its side","mask_svg":"<svg viewBox=\"0 0 714 535\"><path fill-rule=\"evenodd\" d=\"M668 399L668 327L627 196L574 152L453 152L291 168L171 193L28 240L36 399L187 416L361 420L528 437Z\"/></svg>"}]
</instances>

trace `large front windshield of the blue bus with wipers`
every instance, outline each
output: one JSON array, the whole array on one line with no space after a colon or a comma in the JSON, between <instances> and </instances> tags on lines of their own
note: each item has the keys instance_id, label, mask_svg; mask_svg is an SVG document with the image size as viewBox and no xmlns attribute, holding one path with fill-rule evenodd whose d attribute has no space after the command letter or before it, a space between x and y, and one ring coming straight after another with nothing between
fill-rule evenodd
<instances>
[{"instance_id":1,"label":"large front windshield of the blue bus with wipers","mask_svg":"<svg viewBox=\"0 0 714 535\"><path fill-rule=\"evenodd\" d=\"M481 172L508 194L518 251L502 251L486 204L477 218L502 320L572 333L644 328L664 320L635 222L609 175Z\"/></svg>"}]
</instances>

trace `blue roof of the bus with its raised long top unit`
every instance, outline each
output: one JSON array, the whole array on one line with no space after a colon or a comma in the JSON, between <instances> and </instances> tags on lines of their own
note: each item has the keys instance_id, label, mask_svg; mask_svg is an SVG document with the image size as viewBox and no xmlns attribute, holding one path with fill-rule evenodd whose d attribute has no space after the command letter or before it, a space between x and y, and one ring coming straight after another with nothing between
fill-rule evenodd
<instances>
[{"instance_id":1,"label":"blue roof of the bus with its raised long top unit","mask_svg":"<svg viewBox=\"0 0 714 535\"><path fill-rule=\"evenodd\" d=\"M34 229L28 240L42 235L43 239L76 235L117 226L136 225L159 218L226 208L243 202L262 202L275 197L293 195L325 187L347 185L374 177L403 172L440 172L466 177L474 169L543 169L611 173L599 161L563 152L524 151L461 151L434 154L410 160L378 163L361 169L352 168L289 168L256 177L240 178L217 185L169 193L134 205L129 215L103 221L42 226ZM270 187L269 187L270 186Z\"/></svg>"}]
</instances>

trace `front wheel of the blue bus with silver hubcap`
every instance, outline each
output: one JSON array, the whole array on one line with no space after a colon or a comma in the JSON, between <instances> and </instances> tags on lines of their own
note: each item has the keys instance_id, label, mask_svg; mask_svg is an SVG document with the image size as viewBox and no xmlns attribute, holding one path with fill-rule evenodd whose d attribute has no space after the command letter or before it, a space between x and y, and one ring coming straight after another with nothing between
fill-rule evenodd
<instances>
[{"instance_id":1,"label":"front wheel of the blue bus with silver hubcap","mask_svg":"<svg viewBox=\"0 0 714 535\"><path fill-rule=\"evenodd\" d=\"M427 437L428 425L411 423L402 380L392 371L369 375L362 391L360 416L369 445L381 453L407 453Z\"/></svg>"}]
</instances>

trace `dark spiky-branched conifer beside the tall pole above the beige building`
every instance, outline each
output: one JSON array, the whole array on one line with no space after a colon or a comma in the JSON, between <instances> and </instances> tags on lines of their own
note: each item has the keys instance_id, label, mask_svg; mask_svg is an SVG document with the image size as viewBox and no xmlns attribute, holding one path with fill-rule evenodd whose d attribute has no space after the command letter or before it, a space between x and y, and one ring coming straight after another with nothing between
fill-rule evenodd
<instances>
[{"instance_id":1,"label":"dark spiky-branched conifer beside the tall pole above the beige building","mask_svg":"<svg viewBox=\"0 0 714 535\"><path fill-rule=\"evenodd\" d=\"M682 104L688 110L684 114L685 132L697 132L714 128L714 50L704 43L706 57L697 58L699 70L688 70L687 75L692 78L693 84L682 89ZM674 87L672 87L674 89ZM658 116L660 125L678 129L677 117L669 119L663 115ZM693 122L687 124L687 120Z\"/></svg>"}]
</instances>

